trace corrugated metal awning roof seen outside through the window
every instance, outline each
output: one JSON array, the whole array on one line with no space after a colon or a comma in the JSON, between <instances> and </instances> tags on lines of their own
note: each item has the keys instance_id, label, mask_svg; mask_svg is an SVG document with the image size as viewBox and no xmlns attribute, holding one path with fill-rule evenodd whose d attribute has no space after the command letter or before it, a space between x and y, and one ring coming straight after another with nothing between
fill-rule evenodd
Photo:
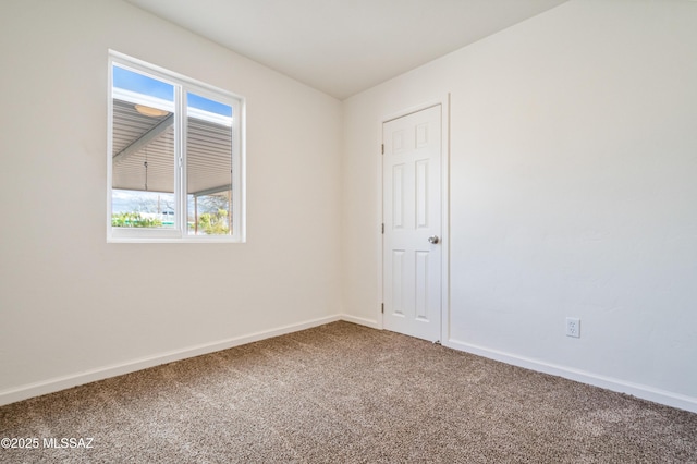
<instances>
[{"instance_id":1,"label":"corrugated metal awning roof seen outside through the window","mask_svg":"<svg viewBox=\"0 0 697 464\"><path fill-rule=\"evenodd\" d=\"M131 101L113 99L112 188L174 192L173 122L172 113L149 117L136 111ZM189 115L186 127L187 193L207 195L229 191L231 127L215 119L195 115Z\"/></svg>"}]
</instances>

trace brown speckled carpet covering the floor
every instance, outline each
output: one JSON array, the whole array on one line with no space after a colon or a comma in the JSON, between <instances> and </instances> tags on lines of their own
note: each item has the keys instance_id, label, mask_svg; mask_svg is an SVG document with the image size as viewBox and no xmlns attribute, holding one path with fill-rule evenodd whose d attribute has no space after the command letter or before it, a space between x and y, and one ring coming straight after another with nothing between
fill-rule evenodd
<instances>
[{"instance_id":1,"label":"brown speckled carpet covering the floor","mask_svg":"<svg viewBox=\"0 0 697 464\"><path fill-rule=\"evenodd\" d=\"M39 439L12 463L697 463L697 414L347 322L3 406L0 437Z\"/></svg>"}]
</instances>

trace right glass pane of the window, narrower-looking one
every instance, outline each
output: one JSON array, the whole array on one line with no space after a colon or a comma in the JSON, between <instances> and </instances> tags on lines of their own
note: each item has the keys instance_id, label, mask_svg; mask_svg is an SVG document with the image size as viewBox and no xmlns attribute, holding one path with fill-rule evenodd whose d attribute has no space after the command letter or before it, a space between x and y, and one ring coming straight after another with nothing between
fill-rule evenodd
<instances>
[{"instance_id":1,"label":"right glass pane of the window, narrower-looking one","mask_svg":"<svg viewBox=\"0 0 697 464\"><path fill-rule=\"evenodd\" d=\"M231 235L232 107L186 94L188 233Z\"/></svg>"}]
</instances>

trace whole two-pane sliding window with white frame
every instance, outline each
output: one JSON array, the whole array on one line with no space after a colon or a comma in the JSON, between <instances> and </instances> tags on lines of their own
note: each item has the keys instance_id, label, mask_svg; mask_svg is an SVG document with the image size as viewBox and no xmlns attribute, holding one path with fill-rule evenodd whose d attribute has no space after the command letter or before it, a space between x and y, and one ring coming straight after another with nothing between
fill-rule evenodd
<instances>
[{"instance_id":1,"label":"whole two-pane sliding window with white frame","mask_svg":"<svg viewBox=\"0 0 697 464\"><path fill-rule=\"evenodd\" d=\"M244 100L109 54L110 242L244 241Z\"/></svg>"}]
</instances>

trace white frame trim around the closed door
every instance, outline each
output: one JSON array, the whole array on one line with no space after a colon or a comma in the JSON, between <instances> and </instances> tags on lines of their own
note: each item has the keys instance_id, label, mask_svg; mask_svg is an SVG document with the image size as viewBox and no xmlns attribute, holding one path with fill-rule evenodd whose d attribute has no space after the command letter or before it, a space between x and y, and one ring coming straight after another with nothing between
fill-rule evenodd
<instances>
[{"instance_id":1,"label":"white frame trim around the closed door","mask_svg":"<svg viewBox=\"0 0 697 464\"><path fill-rule=\"evenodd\" d=\"M379 292L379 302L376 305L378 328L380 330L384 329L384 315L382 314L382 303L384 302L383 291L384 291L384 282L382 279L382 274L384 272L384 262L383 262L383 233L382 233L382 224L384 223L383 209L384 209L384 198L383 198L383 176L382 176L382 149L381 146L383 144L383 125L392 120L403 118L405 115L435 107L441 106L441 284L440 284L440 342L442 345L450 344L450 94L445 94L440 98L435 98L431 100L426 100L420 105L415 105L411 107L405 107L400 111L395 111L393 113L387 114L380 118L379 122L379 139L380 143L378 145L378 161L377 161L377 173L378 173L378 218L376 228L378 233L378 292Z\"/></svg>"}]
</instances>

